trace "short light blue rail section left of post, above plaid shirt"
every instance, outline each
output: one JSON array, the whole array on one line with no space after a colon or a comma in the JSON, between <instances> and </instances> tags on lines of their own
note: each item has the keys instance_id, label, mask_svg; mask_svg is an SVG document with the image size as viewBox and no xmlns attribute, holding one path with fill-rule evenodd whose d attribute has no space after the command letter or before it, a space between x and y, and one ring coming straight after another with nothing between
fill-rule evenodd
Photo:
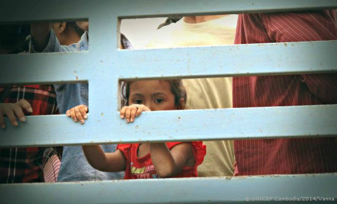
<instances>
[{"instance_id":1,"label":"short light blue rail section left of post, above plaid shirt","mask_svg":"<svg viewBox=\"0 0 337 204\"><path fill-rule=\"evenodd\" d=\"M90 60L88 52L39 53L0 55L0 64L0 84L79 83L89 79L88 70L99 60Z\"/></svg>"}]
</instances>

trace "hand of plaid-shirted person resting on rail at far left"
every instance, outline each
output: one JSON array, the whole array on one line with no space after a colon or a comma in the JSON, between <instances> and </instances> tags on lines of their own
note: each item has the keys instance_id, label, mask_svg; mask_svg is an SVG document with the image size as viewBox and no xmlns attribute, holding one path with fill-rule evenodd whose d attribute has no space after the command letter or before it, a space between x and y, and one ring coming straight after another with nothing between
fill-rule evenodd
<instances>
[{"instance_id":1,"label":"hand of plaid-shirted person resting on rail at far left","mask_svg":"<svg viewBox=\"0 0 337 204\"><path fill-rule=\"evenodd\" d=\"M6 123L4 120L4 115L8 117L12 125L18 126L16 117L19 118L21 122L26 121L26 116L22 109L25 109L28 113L32 113L33 109L27 100L21 99L15 104L0 104L0 125L2 129L6 128Z\"/></svg>"}]
</instances>

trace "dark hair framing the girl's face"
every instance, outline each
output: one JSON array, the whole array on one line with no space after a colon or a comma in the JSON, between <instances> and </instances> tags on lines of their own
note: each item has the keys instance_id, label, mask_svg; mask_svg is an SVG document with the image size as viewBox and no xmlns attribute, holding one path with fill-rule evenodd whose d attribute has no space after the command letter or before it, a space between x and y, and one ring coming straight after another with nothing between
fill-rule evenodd
<instances>
[{"instance_id":1,"label":"dark hair framing the girl's face","mask_svg":"<svg viewBox=\"0 0 337 204\"><path fill-rule=\"evenodd\" d=\"M161 80L164 82L168 82L171 86L171 93L173 93L175 97L175 105L179 106L180 104L180 99L183 98L186 102L187 100L187 94L186 94L186 89L182 83L181 80ZM122 101L123 106L128 106L129 104L129 94L130 94L130 85L134 81L126 81L122 82L122 95L124 100Z\"/></svg>"}]
</instances>

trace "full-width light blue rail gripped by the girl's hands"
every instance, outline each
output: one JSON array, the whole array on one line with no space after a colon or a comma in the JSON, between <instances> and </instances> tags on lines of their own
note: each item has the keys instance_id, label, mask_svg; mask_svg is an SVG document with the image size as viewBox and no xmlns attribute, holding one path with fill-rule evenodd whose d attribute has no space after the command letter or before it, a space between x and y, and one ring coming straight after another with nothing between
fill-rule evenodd
<instances>
[{"instance_id":1,"label":"full-width light blue rail gripped by the girl's hands","mask_svg":"<svg viewBox=\"0 0 337 204\"><path fill-rule=\"evenodd\" d=\"M143 112L130 124L98 107L84 125L65 115L7 125L0 147L337 136L337 105Z\"/></svg>"}]
</instances>

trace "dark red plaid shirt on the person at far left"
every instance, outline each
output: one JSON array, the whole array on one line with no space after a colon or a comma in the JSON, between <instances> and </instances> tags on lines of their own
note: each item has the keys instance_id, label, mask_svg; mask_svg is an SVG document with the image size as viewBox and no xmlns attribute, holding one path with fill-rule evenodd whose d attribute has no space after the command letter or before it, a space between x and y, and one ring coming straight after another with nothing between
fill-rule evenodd
<instances>
[{"instance_id":1,"label":"dark red plaid shirt on the person at far left","mask_svg":"<svg viewBox=\"0 0 337 204\"><path fill-rule=\"evenodd\" d=\"M3 92L4 87L0 87L0 97ZM33 112L26 115L58 114L52 85L13 86L5 103L20 99L26 99L32 106ZM42 147L0 148L0 183L43 182L43 150Z\"/></svg>"}]
</instances>

